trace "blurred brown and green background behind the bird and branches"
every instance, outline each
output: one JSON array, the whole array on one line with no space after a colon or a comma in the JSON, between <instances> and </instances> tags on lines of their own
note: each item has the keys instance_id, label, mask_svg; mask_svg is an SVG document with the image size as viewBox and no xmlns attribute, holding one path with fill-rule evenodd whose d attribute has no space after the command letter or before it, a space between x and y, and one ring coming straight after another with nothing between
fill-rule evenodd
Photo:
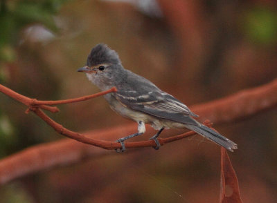
<instances>
[{"instance_id":1,"label":"blurred brown and green background behind the bird and branches","mask_svg":"<svg viewBox=\"0 0 277 203\"><path fill-rule=\"evenodd\" d=\"M107 43L125 68L188 106L277 77L274 0L0 2L0 83L27 97L55 100L97 93L98 88L76 72L97 43ZM51 117L72 131L132 123L110 110L102 97L59 108L61 112ZM1 158L65 139L24 110L0 95ZM214 126L239 146L229 155L244 202L277 201L276 123L274 108ZM169 132L183 131L166 131L161 137ZM166 144L159 151L111 151L0 188L4 203L217 202L219 196L220 147L200 136Z\"/></svg>"}]
</instances>

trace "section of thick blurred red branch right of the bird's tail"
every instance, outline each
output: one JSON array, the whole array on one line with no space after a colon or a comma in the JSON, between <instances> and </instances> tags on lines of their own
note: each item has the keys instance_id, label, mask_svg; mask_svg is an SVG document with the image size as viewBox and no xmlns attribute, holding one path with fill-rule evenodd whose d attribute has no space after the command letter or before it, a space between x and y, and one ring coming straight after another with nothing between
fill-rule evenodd
<instances>
[{"instance_id":1,"label":"section of thick blurred red branch right of the bird's tail","mask_svg":"<svg viewBox=\"0 0 277 203\"><path fill-rule=\"evenodd\" d=\"M214 124L225 124L246 119L277 106L277 79L257 88L241 90L231 96L205 104L191 106L201 115L200 121L210 119Z\"/></svg>"}]
</instances>

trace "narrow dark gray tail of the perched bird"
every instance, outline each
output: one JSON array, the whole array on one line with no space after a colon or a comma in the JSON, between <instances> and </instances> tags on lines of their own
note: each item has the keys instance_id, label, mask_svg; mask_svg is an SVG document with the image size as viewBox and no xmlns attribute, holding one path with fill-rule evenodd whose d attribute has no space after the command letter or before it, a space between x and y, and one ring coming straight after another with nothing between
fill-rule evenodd
<instances>
[{"instance_id":1,"label":"narrow dark gray tail of the perched bird","mask_svg":"<svg viewBox=\"0 0 277 203\"><path fill-rule=\"evenodd\" d=\"M197 126L186 125L186 128L195 131L199 135L202 135L207 139L210 139L211 141L215 142L216 144L219 144L220 146L223 146L231 152L233 152L234 149L238 148L235 142L232 142L230 139L227 139L226 137L220 135L220 133L217 133L213 131L211 128L208 128L207 126L204 126L202 124L199 124Z\"/></svg>"}]
</instances>

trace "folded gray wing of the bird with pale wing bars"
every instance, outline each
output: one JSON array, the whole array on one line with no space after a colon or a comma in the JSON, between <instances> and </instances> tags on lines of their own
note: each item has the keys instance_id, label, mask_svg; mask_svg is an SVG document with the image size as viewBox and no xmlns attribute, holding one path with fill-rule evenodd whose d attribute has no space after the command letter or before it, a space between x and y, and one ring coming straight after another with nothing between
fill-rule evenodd
<instances>
[{"instance_id":1,"label":"folded gray wing of the bird with pale wing bars","mask_svg":"<svg viewBox=\"0 0 277 203\"><path fill-rule=\"evenodd\" d=\"M194 113L181 101L175 99L168 93L161 90L119 90L114 93L114 97L121 104L155 117L170 119L184 124L196 124L195 120L188 115L195 116Z\"/></svg>"}]
</instances>

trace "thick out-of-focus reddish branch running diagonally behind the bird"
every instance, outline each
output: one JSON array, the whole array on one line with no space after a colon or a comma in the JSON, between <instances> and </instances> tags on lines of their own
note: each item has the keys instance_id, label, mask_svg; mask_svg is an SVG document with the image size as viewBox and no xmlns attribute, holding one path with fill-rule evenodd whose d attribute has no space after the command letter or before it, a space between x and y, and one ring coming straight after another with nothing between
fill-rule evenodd
<instances>
[{"instance_id":1,"label":"thick out-of-focus reddish branch running diagonally behind the bird","mask_svg":"<svg viewBox=\"0 0 277 203\"><path fill-rule=\"evenodd\" d=\"M0 91L3 92L0 85ZM201 115L200 119L212 119L213 123L230 123L245 117L251 117L257 113L274 108L277 106L277 79L269 84L258 88L243 90L240 93L193 106L193 112ZM250 99L251 98L251 99ZM252 108L245 106L253 105ZM266 105L265 105L266 104ZM239 109L239 110L238 110ZM224 112L224 113L222 113ZM50 121L49 121L50 122ZM90 131L86 135L91 135L96 139L115 139L115 135L127 135L134 132L135 124L127 126L117 126L115 128L102 129L98 131ZM154 131L152 128L147 129L150 133ZM183 136L189 136L184 134ZM177 135L181 136L181 135ZM168 142L174 137L168 137ZM126 143L129 146L128 143ZM132 143L130 143L132 145ZM55 166L65 166L80 162L84 157L99 156L107 154L109 151L101 148L91 147L80 142L75 142L72 139L65 139L49 144L39 144L27 148L24 151L15 153L0 161L0 184L5 184L15 178L22 177L31 173L53 168Z\"/></svg>"}]
</instances>

